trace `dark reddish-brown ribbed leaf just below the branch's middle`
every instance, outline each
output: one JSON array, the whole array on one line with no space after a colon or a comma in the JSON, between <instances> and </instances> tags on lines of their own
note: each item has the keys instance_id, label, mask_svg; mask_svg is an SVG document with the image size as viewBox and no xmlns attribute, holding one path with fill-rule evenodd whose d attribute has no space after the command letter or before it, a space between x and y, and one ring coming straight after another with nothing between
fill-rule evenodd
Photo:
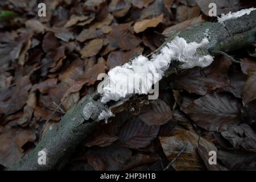
<instances>
[{"instance_id":1,"label":"dark reddish-brown ribbed leaf just below the branch's middle","mask_svg":"<svg viewBox=\"0 0 256 182\"><path fill-rule=\"evenodd\" d=\"M158 135L159 126L148 126L138 117L133 117L125 123L118 135L122 146L143 148Z\"/></svg>"}]
</instances>

